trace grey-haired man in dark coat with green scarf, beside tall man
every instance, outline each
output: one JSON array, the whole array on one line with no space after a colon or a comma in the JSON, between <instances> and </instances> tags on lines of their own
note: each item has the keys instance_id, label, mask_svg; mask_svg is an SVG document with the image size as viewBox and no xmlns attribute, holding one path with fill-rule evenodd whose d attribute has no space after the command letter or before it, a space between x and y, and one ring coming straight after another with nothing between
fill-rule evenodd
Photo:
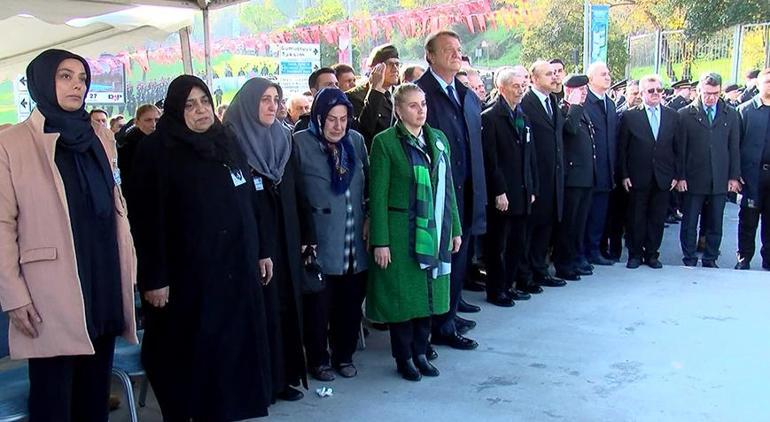
<instances>
[{"instance_id":1,"label":"grey-haired man in dark coat with green scarf, beside tall man","mask_svg":"<svg viewBox=\"0 0 770 422\"><path fill-rule=\"evenodd\" d=\"M519 104L524 74L504 68L495 77L500 95L481 114L487 177L487 302L511 307L529 299L529 279L520 274L527 259L527 218L537 192L537 161L527 118Z\"/></svg>"}]
</instances>

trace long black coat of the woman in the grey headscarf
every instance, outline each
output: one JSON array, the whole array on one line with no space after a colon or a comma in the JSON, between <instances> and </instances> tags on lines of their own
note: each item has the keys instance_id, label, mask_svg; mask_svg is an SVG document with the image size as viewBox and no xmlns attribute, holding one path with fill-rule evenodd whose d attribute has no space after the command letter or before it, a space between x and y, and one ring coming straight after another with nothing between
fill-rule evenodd
<instances>
[{"instance_id":1,"label":"long black coat of the woman in the grey headscarf","mask_svg":"<svg viewBox=\"0 0 770 422\"><path fill-rule=\"evenodd\" d=\"M267 329L270 337L273 391L281 392L298 382L307 388L307 369L302 336L301 246L316 243L313 216L307 199L297 183L297 158L292 152L283 177L276 184L253 172L257 201L268 204L265 219L275 237L269 255L273 259L273 280L264 287L267 304Z\"/></svg>"}]
</instances>

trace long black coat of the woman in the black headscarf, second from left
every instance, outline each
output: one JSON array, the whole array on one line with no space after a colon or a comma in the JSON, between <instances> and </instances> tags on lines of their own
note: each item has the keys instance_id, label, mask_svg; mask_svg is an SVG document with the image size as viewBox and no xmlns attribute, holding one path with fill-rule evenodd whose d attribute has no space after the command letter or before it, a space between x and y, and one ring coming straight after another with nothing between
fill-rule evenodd
<instances>
[{"instance_id":1,"label":"long black coat of the woman in the black headscarf, second from left","mask_svg":"<svg viewBox=\"0 0 770 422\"><path fill-rule=\"evenodd\" d=\"M236 186L222 163L156 135L137 151L140 193L129 211L140 291L169 287L164 308L144 305L147 375L169 420L264 416L270 355L258 259L272 236L258 222L248 167L241 158Z\"/></svg>"}]
</instances>

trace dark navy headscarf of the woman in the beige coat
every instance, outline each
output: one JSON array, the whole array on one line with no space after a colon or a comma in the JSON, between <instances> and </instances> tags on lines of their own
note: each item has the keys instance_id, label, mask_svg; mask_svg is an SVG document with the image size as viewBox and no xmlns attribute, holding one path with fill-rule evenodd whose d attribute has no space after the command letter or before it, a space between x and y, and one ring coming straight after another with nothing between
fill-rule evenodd
<instances>
[{"instance_id":1,"label":"dark navy headscarf of the woman in the beige coat","mask_svg":"<svg viewBox=\"0 0 770 422\"><path fill-rule=\"evenodd\" d=\"M91 86L88 62L77 54L55 49L40 53L27 66L29 94L37 104L37 110L45 116L43 130L46 133L58 133L58 146L78 153L74 157L79 183L83 191L87 192L96 215L105 217L112 212L112 188L115 181L104 147L91 126L85 101L79 109L66 111L56 98L56 70L67 59L83 63L86 70L85 98Z\"/></svg>"}]
</instances>

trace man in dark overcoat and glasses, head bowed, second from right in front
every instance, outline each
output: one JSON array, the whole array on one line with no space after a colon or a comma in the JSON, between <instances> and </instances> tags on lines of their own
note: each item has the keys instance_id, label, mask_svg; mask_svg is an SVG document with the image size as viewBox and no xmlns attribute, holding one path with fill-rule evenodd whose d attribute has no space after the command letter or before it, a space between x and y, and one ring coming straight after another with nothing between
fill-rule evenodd
<instances>
[{"instance_id":1,"label":"man in dark overcoat and glasses, head bowed, second from right in front","mask_svg":"<svg viewBox=\"0 0 770 422\"><path fill-rule=\"evenodd\" d=\"M708 217L702 222L706 248L701 258L704 267L715 268L722 243L722 218L728 192L739 192L740 121L738 112L719 98L722 77L707 73L700 78L698 98L679 110L681 178L677 190L684 192L684 217L679 232L682 261L698 264L696 255L698 218L705 207Z\"/></svg>"}]
</instances>

